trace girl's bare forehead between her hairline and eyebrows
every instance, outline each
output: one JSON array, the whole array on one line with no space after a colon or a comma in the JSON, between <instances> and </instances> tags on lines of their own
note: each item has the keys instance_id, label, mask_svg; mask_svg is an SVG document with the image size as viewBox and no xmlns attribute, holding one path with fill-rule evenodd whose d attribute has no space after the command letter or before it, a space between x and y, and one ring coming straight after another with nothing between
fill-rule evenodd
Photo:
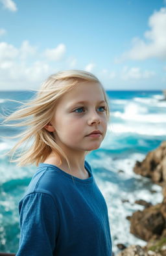
<instances>
[{"instance_id":1,"label":"girl's bare forehead between her hairline and eyebrows","mask_svg":"<svg viewBox=\"0 0 166 256\"><path fill-rule=\"evenodd\" d=\"M66 92L64 96L62 96L63 102L76 102L84 100L104 100L104 93L101 85L97 82L90 81L78 83L70 91Z\"/></svg>"}]
</instances>

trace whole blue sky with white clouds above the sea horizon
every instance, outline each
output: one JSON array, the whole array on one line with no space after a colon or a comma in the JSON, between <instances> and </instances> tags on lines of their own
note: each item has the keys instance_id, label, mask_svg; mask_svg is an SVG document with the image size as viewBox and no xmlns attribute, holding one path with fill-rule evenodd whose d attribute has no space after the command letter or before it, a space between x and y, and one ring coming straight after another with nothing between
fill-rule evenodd
<instances>
[{"instance_id":1,"label":"whole blue sky with white clouds above the sea horizon","mask_svg":"<svg viewBox=\"0 0 166 256\"><path fill-rule=\"evenodd\" d=\"M166 0L0 0L0 90L69 69L106 90L166 89Z\"/></svg>"}]
</instances>

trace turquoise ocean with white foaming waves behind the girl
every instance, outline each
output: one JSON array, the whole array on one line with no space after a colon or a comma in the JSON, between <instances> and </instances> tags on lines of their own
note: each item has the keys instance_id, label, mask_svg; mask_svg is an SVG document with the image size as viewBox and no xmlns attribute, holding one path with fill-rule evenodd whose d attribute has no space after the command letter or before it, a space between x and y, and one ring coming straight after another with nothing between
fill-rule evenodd
<instances>
[{"instance_id":1,"label":"turquoise ocean with white foaming waves behind the girl","mask_svg":"<svg viewBox=\"0 0 166 256\"><path fill-rule=\"evenodd\" d=\"M32 91L1 91L1 113L12 113L19 106L6 99L26 101L33 94ZM163 199L161 187L136 175L133 167L137 160L142 161L150 150L166 139L166 101L161 101L162 91L107 91L107 94L110 104L108 131L100 149L88 154L86 160L93 167L95 180L106 199L116 254L119 243L126 246L146 244L130 234L130 221L126 216L143 210L143 206L134 202L144 199L155 205ZM0 135L16 135L21 129L0 126ZM35 165L16 167L9 162L9 156L4 156L16 141L0 137L0 251L6 253L16 253L18 249L18 202L36 171Z\"/></svg>"}]
</instances>

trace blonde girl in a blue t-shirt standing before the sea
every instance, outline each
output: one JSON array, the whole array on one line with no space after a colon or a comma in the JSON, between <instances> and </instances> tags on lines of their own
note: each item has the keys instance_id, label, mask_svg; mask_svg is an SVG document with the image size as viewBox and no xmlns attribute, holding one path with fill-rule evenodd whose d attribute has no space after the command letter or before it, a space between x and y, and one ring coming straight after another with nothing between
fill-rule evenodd
<instances>
[{"instance_id":1,"label":"blonde girl in a blue t-shirt standing before the sea","mask_svg":"<svg viewBox=\"0 0 166 256\"><path fill-rule=\"evenodd\" d=\"M38 168L19 201L16 255L111 256L108 208L85 160L100 147L109 119L99 79L82 70L53 74L5 121L20 119L8 125L29 128L10 151L32 145L11 162Z\"/></svg>"}]
</instances>

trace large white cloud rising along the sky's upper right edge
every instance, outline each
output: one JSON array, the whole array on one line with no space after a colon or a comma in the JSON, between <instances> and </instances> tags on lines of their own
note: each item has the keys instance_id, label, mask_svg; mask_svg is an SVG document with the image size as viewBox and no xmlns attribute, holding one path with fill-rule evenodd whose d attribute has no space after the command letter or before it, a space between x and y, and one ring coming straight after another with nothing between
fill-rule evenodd
<instances>
[{"instance_id":1,"label":"large white cloud rising along the sky's upper right edge","mask_svg":"<svg viewBox=\"0 0 166 256\"><path fill-rule=\"evenodd\" d=\"M144 39L133 38L132 49L123 53L121 60L144 60L152 57L166 59L166 8L154 12L148 20L150 30L145 31Z\"/></svg>"}]
</instances>

